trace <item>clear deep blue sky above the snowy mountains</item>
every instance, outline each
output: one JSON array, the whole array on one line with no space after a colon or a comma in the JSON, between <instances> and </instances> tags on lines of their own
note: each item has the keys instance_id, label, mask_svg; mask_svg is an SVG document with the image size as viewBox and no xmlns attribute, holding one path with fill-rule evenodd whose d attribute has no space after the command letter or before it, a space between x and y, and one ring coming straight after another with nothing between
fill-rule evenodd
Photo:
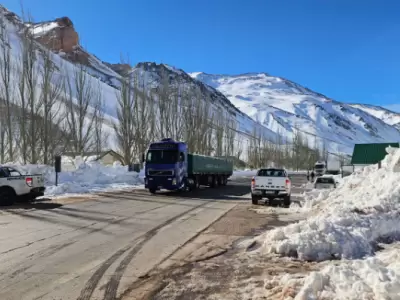
<instances>
[{"instance_id":1,"label":"clear deep blue sky above the snowy mountains","mask_svg":"<svg viewBox=\"0 0 400 300\"><path fill-rule=\"evenodd\" d=\"M20 13L19 2L2 4ZM400 108L400 1L22 2L35 21L70 17L108 62L124 53L187 72L267 72L336 100Z\"/></svg>"}]
</instances>

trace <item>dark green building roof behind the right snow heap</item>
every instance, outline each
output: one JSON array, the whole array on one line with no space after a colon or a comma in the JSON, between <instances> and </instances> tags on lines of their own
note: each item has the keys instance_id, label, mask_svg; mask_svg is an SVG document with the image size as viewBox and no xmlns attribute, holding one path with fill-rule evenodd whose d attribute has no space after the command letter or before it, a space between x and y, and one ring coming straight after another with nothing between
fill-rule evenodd
<instances>
[{"instance_id":1,"label":"dark green building roof behind the right snow heap","mask_svg":"<svg viewBox=\"0 0 400 300\"><path fill-rule=\"evenodd\" d=\"M400 148L399 143L379 143L379 144L355 144L352 165L372 165L377 164L386 156L387 147Z\"/></svg>"}]
</instances>

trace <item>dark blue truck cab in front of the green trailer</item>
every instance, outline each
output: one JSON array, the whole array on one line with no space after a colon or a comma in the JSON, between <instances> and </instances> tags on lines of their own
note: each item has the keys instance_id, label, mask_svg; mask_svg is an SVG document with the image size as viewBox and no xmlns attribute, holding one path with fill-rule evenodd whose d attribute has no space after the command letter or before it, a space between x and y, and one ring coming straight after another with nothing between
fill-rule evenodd
<instances>
[{"instance_id":1,"label":"dark blue truck cab in front of the green trailer","mask_svg":"<svg viewBox=\"0 0 400 300\"><path fill-rule=\"evenodd\" d=\"M183 190L187 185L188 149L184 142L166 138L151 143L144 155L145 188L151 193Z\"/></svg>"}]
</instances>

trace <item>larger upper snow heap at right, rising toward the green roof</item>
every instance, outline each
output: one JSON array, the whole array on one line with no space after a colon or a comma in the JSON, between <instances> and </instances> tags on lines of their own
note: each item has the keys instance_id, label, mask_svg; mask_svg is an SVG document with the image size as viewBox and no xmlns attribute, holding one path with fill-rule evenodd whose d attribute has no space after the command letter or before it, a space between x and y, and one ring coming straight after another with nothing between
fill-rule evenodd
<instances>
[{"instance_id":1,"label":"larger upper snow heap at right, rising toward the green roof","mask_svg":"<svg viewBox=\"0 0 400 300\"><path fill-rule=\"evenodd\" d=\"M373 255L380 241L400 237L400 150L382 168L369 166L335 190L306 198L307 220L267 232L262 251L301 260L356 259Z\"/></svg>"}]
</instances>

